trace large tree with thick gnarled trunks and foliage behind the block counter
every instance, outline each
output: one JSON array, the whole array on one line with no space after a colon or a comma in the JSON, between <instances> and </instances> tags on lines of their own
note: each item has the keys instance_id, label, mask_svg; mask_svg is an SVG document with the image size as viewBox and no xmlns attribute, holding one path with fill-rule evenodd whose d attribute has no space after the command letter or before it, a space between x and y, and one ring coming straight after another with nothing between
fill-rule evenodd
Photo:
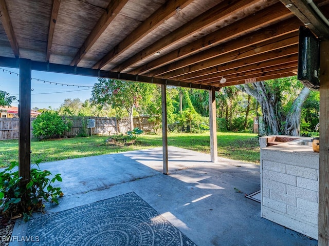
<instances>
[{"instance_id":1,"label":"large tree with thick gnarled trunks and foliage behind the block counter","mask_svg":"<svg viewBox=\"0 0 329 246\"><path fill-rule=\"evenodd\" d=\"M301 108L309 89L303 87L296 77L236 87L258 100L262 108L265 135L299 135Z\"/></svg>"}]
</instances>

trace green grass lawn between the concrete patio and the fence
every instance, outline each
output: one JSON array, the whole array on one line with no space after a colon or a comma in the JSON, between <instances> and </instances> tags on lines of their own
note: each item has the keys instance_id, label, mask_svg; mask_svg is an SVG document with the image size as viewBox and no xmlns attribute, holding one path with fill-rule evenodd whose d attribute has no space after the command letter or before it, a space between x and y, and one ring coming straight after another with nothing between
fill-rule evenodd
<instances>
[{"instance_id":1,"label":"green grass lawn between the concrete patio and the fence","mask_svg":"<svg viewBox=\"0 0 329 246\"><path fill-rule=\"evenodd\" d=\"M32 140L31 162L42 162L79 158L85 156L117 153L130 150L162 146L161 135L144 134L138 137L138 144L131 146L109 146L108 136L63 138L56 140ZM240 132L218 132L218 156L253 163L260 162L260 148L257 134ZM209 132L199 134L169 133L168 145L210 153ZM0 141L0 166L18 160L18 140Z\"/></svg>"}]
</instances>

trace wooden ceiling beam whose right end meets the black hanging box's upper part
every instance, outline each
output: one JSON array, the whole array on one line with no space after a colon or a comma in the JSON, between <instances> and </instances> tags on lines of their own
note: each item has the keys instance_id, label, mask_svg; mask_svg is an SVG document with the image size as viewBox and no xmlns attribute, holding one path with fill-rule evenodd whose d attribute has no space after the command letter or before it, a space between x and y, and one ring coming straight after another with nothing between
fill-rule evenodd
<instances>
[{"instance_id":1,"label":"wooden ceiling beam whose right end meets the black hanging box's upper part","mask_svg":"<svg viewBox=\"0 0 329 246\"><path fill-rule=\"evenodd\" d=\"M257 45L248 46L221 56L216 56L214 58L201 61L200 63L195 63L191 66L182 67L180 69L171 71L169 73L165 73L162 76L164 78L180 77L181 75L184 74L196 72L199 70L214 67L224 63L229 63L232 60L239 60L257 54L270 52L272 50L282 49L284 47L289 47L291 45L296 45L296 44L298 44L298 32L289 33L284 36L267 40Z\"/></svg>"}]
</instances>

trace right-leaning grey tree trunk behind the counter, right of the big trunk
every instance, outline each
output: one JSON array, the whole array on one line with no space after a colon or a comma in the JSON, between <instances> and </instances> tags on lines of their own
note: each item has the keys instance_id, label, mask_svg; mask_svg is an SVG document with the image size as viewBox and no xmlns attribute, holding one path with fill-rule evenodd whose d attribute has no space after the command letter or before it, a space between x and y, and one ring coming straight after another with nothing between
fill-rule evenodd
<instances>
[{"instance_id":1,"label":"right-leaning grey tree trunk behind the counter, right of the big trunk","mask_svg":"<svg viewBox=\"0 0 329 246\"><path fill-rule=\"evenodd\" d=\"M302 112L302 107L309 95L310 91L308 88L304 87L299 93L298 97L291 106L290 111L286 116L286 124L284 126L284 134L291 136L299 136L300 132L300 115Z\"/></svg>"}]
</instances>

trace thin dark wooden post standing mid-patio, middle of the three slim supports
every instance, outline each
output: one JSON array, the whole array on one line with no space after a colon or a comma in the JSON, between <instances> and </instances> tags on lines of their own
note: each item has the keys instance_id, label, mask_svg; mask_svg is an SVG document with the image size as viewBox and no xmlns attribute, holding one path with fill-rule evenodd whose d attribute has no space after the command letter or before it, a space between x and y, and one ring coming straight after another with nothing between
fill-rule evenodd
<instances>
[{"instance_id":1,"label":"thin dark wooden post standing mid-patio, middle of the three slim supports","mask_svg":"<svg viewBox=\"0 0 329 246\"><path fill-rule=\"evenodd\" d=\"M162 106L162 159L163 174L168 174L168 139L167 139L167 93L166 85L161 85Z\"/></svg>"}]
</instances>

